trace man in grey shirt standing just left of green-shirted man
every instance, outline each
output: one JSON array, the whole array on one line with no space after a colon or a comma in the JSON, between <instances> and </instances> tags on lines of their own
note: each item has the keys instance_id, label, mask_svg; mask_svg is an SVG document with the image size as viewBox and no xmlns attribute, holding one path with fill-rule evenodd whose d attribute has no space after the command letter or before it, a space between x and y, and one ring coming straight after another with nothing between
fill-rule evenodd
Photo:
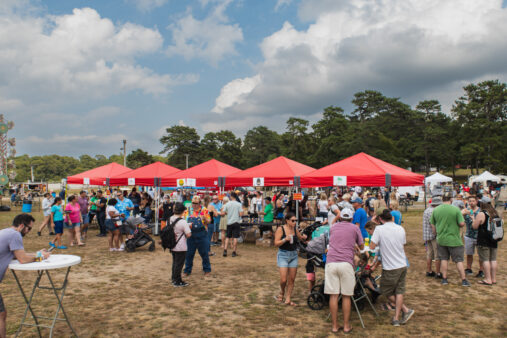
<instances>
[{"instance_id":1,"label":"man in grey shirt standing just left of green-shirted man","mask_svg":"<svg viewBox=\"0 0 507 338\"><path fill-rule=\"evenodd\" d=\"M433 197L431 199L431 205L426 210L424 210L423 213L423 240L424 244L426 245L426 277L442 278L442 274L440 273L440 260L438 259L437 252L437 236L430 224L433 210L440 204L442 204L442 198L440 198L440 196ZM435 268L437 270L436 274L431 269L433 260L435 260Z\"/></svg>"}]
</instances>

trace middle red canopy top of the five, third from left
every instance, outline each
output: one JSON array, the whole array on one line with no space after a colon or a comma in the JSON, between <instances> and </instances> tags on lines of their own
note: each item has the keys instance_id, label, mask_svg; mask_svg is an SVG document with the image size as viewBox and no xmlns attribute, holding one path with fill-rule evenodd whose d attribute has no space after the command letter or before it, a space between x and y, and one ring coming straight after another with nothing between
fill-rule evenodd
<instances>
[{"instance_id":1,"label":"middle red canopy top of the five, third from left","mask_svg":"<svg viewBox=\"0 0 507 338\"><path fill-rule=\"evenodd\" d=\"M218 187L219 180L241 170L211 159L178 173L162 177L162 187Z\"/></svg>"}]
</instances>

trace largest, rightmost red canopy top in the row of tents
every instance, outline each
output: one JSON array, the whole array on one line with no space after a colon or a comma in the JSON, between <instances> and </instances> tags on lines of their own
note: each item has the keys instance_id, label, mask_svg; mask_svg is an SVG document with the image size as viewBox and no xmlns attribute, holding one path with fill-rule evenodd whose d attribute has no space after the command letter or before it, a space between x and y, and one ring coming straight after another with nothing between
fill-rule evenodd
<instances>
[{"instance_id":1,"label":"largest, rightmost red canopy top in the row of tents","mask_svg":"<svg viewBox=\"0 0 507 338\"><path fill-rule=\"evenodd\" d=\"M365 153L348 157L301 177L302 187L419 186L424 176Z\"/></svg>"}]
</instances>

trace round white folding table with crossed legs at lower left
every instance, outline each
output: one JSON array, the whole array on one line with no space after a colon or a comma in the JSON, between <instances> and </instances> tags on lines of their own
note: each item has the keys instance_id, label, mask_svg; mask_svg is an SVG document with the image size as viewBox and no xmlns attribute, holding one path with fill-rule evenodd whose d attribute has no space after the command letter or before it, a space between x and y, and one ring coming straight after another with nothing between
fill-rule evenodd
<instances>
[{"instance_id":1,"label":"round white folding table with crossed legs at lower left","mask_svg":"<svg viewBox=\"0 0 507 338\"><path fill-rule=\"evenodd\" d=\"M19 329L16 332L16 337L21 333L21 329L23 326L31 326L36 327L37 331L39 333L39 337L42 337L40 328L48 328L49 331L49 337L53 336L53 329L55 327L55 324L57 321L66 321L69 325L70 329L72 330L72 333L74 336L77 337L76 331L72 328L72 325L70 324L69 317L67 317L67 314L65 313L65 309L63 307L63 297L65 295L65 289L67 288L67 282L69 278L70 268L73 265L81 263L81 257L74 256L74 255L51 255L48 259L42 261L42 262L33 262L33 263L27 263L27 264L21 264L17 260L13 260L9 264L9 269L12 271L12 274L14 275L14 279L16 279L16 283L18 284L19 290L21 291L21 295L23 295L23 299L26 302L26 309L25 313L23 315L23 318L21 319L21 324L19 325ZM49 273L49 270L54 269L63 269L67 268L67 271L65 273L65 278L63 280L61 287L56 287L55 283L53 282L53 279L51 278L51 275ZM16 271L37 271L37 278L35 279L35 283L32 288L32 293L30 294L30 297L27 298L25 292L23 291L23 287L21 286L21 283L19 282L18 276L16 275ZM49 280L50 286L41 286L40 281L42 279L42 276L46 275ZM33 309L32 309L32 299L35 294L35 291L37 289L44 289L44 290L52 290L55 294L56 299L58 300L58 307L56 309L56 312L54 316L51 317L44 317L44 316L36 316ZM60 313L60 310L63 313L64 318L59 318L58 314ZM35 321L35 324L32 323L26 323L28 311L30 311L33 320ZM39 323L39 319L45 319L51 321L50 325L42 325Z\"/></svg>"}]
</instances>

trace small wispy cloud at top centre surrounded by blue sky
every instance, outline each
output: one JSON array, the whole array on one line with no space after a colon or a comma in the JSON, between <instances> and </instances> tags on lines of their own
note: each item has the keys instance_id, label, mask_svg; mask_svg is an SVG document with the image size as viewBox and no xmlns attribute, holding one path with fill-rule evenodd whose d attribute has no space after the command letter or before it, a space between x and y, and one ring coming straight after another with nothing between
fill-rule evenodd
<instances>
[{"instance_id":1,"label":"small wispy cloud at top centre surrounded by blue sky","mask_svg":"<svg viewBox=\"0 0 507 338\"><path fill-rule=\"evenodd\" d=\"M209 0L203 0L203 6ZM238 24L230 24L225 10L232 0L211 1L218 4L203 20L192 13L185 15L169 26L173 44L167 48L169 56L181 55L190 60L199 58L217 65L229 55L236 55L236 44L243 41L243 32Z\"/></svg>"}]
</instances>

